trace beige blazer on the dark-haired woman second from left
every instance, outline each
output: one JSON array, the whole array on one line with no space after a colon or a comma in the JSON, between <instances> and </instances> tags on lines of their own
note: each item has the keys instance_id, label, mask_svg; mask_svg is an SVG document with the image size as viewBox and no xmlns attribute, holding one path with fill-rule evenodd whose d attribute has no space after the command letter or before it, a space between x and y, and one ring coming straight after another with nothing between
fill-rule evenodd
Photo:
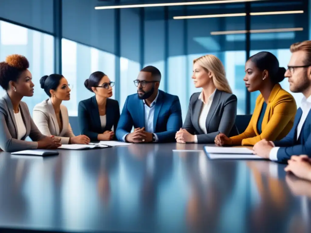
<instances>
[{"instance_id":1,"label":"beige blazer on the dark-haired woman second from left","mask_svg":"<svg viewBox=\"0 0 311 233\"><path fill-rule=\"evenodd\" d=\"M69 138L74 137L75 135L73 134L72 128L69 124L67 107L61 104L60 111L63 120L63 129L61 132L59 132L59 126L51 99L46 99L41 103L38 103L34 107L32 117L42 134L60 137L62 144L68 144Z\"/></svg>"}]
</instances>

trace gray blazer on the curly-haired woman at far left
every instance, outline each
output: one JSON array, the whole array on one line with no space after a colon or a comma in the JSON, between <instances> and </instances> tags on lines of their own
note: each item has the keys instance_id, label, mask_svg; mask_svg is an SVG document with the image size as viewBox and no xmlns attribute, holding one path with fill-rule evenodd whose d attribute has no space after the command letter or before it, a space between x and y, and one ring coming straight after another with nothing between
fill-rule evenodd
<instances>
[{"instance_id":1,"label":"gray blazer on the curly-haired woman at far left","mask_svg":"<svg viewBox=\"0 0 311 233\"><path fill-rule=\"evenodd\" d=\"M21 101L19 107L26 126L26 135L21 140L17 139L18 129L16 128L11 99L7 93L0 98L0 148L3 151L13 152L37 149L38 143L36 141L45 137L32 120L27 104ZM25 141L28 136L32 139L32 142Z\"/></svg>"}]
</instances>

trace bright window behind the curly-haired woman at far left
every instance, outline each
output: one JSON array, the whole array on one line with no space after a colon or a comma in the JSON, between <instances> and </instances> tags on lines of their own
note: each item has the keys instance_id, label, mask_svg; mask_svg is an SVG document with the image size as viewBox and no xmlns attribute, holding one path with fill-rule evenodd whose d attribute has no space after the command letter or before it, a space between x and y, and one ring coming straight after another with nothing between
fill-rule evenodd
<instances>
[{"instance_id":1,"label":"bright window behind the curly-haired woman at far left","mask_svg":"<svg viewBox=\"0 0 311 233\"><path fill-rule=\"evenodd\" d=\"M20 54L29 61L29 70L35 84L35 94L25 97L30 114L37 103L48 98L40 88L40 78L54 73L54 38L35 30L0 21L0 61L8 55ZM3 95L5 90L0 90Z\"/></svg>"}]
</instances>

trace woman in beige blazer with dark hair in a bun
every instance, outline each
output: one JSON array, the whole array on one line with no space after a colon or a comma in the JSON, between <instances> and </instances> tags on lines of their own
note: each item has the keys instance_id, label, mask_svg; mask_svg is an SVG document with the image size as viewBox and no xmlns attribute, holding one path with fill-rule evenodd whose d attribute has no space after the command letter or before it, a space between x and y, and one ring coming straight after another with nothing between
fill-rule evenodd
<instances>
[{"instance_id":1,"label":"woman in beige blazer with dark hair in a bun","mask_svg":"<svg viewBox=\"0 0 311 233\"><path fill-rule=\"evenodd\" d=\"M55 135L62 144L88 144L85 135L75 136L72 132L67 108L63 100L70 100L70 88L63 75L45 75L40 79L41 88L50 97L38 103L33 110L33 119L41 133Z\"/></svg>"}]
</instances>

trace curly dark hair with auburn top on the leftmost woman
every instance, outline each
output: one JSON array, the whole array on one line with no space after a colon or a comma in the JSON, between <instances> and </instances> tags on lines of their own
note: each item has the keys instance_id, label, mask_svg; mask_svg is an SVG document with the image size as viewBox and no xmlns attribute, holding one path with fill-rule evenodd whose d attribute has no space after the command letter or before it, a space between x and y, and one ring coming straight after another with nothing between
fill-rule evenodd
<instances>
[{"instance_id":1,"label":"curly dark hair with auburn top on the leftmost woman","mask_svg":"<svg viewBox=\"0 0 311 233\"><path fill-rule=\"evenodd\" d=\"M0 86L7 90L9 82L16 82L21 72L29 68L26 57L18 54L7 56L5 62L0 62Z\"/></svg>"}]
</instances>

